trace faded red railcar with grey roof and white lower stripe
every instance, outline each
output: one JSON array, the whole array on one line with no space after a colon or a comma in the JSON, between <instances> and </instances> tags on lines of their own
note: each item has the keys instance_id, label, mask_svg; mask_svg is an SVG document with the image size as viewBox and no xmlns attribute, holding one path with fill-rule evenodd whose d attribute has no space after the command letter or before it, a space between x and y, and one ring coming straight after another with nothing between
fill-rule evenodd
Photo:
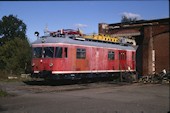
<instances>
[{"instance_id":1,"label":"faded red railcar with grey roof and white lower stripe","mask_svg":"<svg viewBox=\"0 0 170 113\"><path fill-rule=\"evenodd\" d=\"M80 39L80 38L79 38ZM135 49L120 44L42 37L32 43L33 77L82 78L135 71Z\"/></svg>"}]
</instances>

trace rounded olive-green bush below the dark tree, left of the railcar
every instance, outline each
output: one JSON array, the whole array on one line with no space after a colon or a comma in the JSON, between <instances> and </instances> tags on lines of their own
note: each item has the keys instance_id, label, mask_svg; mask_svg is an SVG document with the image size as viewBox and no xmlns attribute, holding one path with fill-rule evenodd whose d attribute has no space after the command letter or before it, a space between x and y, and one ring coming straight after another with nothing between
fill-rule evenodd
<instances>
[{"instance_id":1,"label":"rounded olive-green bush below the dark tree, left of the railcar","mask_svg":"<svg viewBox=\"0 0 170 113\"><path fill-rule=\"evenodd\" d=\"M27 40L15 38L0 47L0 69L8 74L21 74L31 62L31 50Z\"/></svg>"}]
</instances>

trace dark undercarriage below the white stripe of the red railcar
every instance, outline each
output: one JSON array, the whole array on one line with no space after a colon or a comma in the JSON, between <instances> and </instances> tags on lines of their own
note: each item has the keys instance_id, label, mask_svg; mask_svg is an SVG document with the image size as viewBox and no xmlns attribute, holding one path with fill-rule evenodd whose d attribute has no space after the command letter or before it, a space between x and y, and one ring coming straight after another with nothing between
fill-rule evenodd
<instances>
[{"instance_id":1,"label":"dark undercarriage below the white stripe of the red railcar","mask_svg":"<svg viewBox=\"0 0 170 113\"><path fill-rule=\"evenodd\" d=\"M32 78L42 78L44 80L80 80L80 79L111 79L120 82L137 81L136 72L114 72L114 73L70 73L70 74L52 74L51 71L41 71L32 73Z\"/></svg>"}]
</instances>

